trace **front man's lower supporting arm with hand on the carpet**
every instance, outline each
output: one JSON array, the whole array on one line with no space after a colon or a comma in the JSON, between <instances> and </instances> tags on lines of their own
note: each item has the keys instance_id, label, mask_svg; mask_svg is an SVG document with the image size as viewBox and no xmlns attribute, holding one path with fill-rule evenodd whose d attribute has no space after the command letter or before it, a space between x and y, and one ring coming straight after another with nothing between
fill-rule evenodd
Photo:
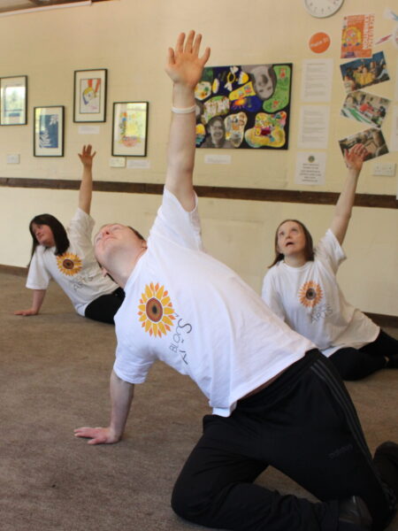
<instances>
[{"instance_id":1,"label":"front man's lower supporting arm with hand on the carpet","mask_svg":"<svg viewBox=\"0 0 398 531\"><path fill-rule=\"evenodd\" d=\"M119 443L126 427L128 413L134 396L134 384L120 380L111 372L111 423L109 427L78 427L76 437L90 439L88 444Z\"/></svg>"}]
</instances>

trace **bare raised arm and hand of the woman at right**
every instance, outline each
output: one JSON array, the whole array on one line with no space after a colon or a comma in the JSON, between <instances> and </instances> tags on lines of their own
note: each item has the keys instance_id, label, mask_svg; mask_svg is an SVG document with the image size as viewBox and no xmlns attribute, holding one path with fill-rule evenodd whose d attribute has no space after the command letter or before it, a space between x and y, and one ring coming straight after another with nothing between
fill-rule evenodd
<instances>
[{"instance_id":1,"label":"bare raised arm and hand of the woman at right","mask_svg":"<svg viewBox=\"0 0 398 531\"><path fill-rule=\"evenodd\" d=\"M347 232L348 222L351 218L352 207L356 197L356 184L361 173L364 158L368 154L366 148L357 143L344 153L344 160L348 167L348 176L336 204L331 223L331 230L337 240L342 243Z\"/></svg>"}]
</instances>

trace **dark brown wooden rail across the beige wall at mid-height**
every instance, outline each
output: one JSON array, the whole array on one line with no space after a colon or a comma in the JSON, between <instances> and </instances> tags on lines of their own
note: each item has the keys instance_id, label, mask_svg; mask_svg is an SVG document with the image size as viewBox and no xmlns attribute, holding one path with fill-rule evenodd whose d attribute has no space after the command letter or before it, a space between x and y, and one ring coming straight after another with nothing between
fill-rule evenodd
<instances>
[{"instance_id":1,"label":"dark brown wooden rail across the beige wall at mid-height","mask_svg":"<svg viewBox=\"0 0 398 531\"><path fill-rule=\"evenodd\" d=\"M80 181L67 179L0 177L0 186L9 188L76 190L79 189ZM124 194L161 195L163 193L163 184L151 184L146 182L94 181L93 188L97 192L115 192ZM336 204L339 196L337 192L246 189L219 186L195 186L195 190L200 197L301 204ZM398 207L398 200L395 196L356 194L355 204L356 206L396 209Z\"/></svg>"}]
</instances>

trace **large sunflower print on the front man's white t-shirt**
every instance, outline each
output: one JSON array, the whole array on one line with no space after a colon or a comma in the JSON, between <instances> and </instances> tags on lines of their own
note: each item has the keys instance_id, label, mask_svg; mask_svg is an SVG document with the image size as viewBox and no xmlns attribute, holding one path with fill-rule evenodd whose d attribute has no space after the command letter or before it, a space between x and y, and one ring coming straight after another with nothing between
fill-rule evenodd
<instances>
[{"instance_id":1,"label":"large sunflower print on the front man's white t-shirt","mask_svg":"<svg viewBox=\"0 0 398 531\"><path fill-rule=\"evenodd\" d=\"M154 337L166 335L174 326L172 321L175 317L172 301L165 286L150 282L145 286L141 297L138 315L145 332Z\"/></svg>"}]
</instances>

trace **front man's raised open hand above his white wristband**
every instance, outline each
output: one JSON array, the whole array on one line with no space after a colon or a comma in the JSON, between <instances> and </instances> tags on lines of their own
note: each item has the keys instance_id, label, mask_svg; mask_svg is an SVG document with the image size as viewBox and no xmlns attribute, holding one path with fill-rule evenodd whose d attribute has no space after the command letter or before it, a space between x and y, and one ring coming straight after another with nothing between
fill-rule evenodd
<instances>
[{"instance_id":1,"label":"front man's raised open hand above his white wristband","mask_svg":"<svg viewBox=\"0 0 398 531\"><path fill-rule=\"evenodd\" d=\"M174 83L194 89L202 77L203 66L210 58L210 48L206 48L203 56L199 57L202 35L195 36L192 30L187 40L185 36L184 33L179 35L175 50L169 48L165 71Z\"/></svg>"}]
</instances>

